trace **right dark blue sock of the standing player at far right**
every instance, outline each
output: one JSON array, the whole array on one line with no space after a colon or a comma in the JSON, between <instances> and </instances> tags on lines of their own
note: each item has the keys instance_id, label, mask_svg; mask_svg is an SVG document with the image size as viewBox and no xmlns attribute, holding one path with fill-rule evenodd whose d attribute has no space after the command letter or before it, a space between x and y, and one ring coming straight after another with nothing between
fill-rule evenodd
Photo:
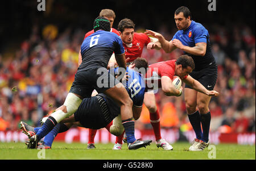
<instances>
[{"instance_id":1,"label":"right dark blue sock of the standing player at far right","mask_svg":"<svg viewBox=\"0 0 256 171\"><path fill-rule=\"evenodd\" d=\"M201 140L203 140L205 143L208 143L209 141L210 119L210 111L207 114L200 115L200 120L203 128L203 137Z\"/></svg>"}]
</instances>

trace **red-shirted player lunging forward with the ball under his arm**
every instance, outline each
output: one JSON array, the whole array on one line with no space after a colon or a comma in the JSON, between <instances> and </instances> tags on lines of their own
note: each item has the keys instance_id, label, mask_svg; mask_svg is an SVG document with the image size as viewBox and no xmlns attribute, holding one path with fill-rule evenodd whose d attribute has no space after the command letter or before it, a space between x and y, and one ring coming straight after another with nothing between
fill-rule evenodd
<instances>
[{"instance_id":1,"label":"red-shirted player lunging forward with the ball under his arm","mask_svg":"<svg viewBox=\"0 0 256 171\"><path fill-rule=\"evenodd\" d=\"M162 88L164 94L168 96L174 95L179 97L182 94L182 86L177 90L172 85L172 79L174 76L179 76L185 84L188 84L192 89L199 91L200 93L206 94L209 97L218 96L217 91L207 90L199 81L196 81L189 76L189 73L191 73L194 68L195 63L192 57L188 55L183 55L177 60L168 60L149 65L146 74L146 86L148 91L144 94L144 104L147 109L157 111L154 93L155 90L158 90L159 88ZM139 118L139 116L134 115L134 118ZM162 139L162 137L157 137L160 136L159 115L152 115L151 113L150 122L155 128L154 133L156 136L156 146L162 147L165 150L172 150L172 146ZM119 119L119 121L114 124L121 125L121 120ZM158 130L156 130L156 128L158 128Z\"/></svg>"}]
</instances>

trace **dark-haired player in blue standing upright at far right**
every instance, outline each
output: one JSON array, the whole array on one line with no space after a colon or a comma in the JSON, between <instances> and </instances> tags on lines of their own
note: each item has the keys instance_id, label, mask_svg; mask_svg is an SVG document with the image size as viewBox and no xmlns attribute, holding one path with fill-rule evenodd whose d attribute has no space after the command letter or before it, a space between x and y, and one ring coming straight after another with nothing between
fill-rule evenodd
<instances>
[{"instance_id":1,"label":"dark-haired player in blue standing upright at far right","mask_svg":"<svg viewBox=\"0 0 256 171\"><path fill-rule=\"evenodd\" d=\"M191 12L187 7L179 7L175 11L174 19L179 31L171 41L151 30L146 30L145 34L158 38L166 53L178 48L191 56L195 62L195 69L189 75L206 89L213 90L217 81L217 65L212 55L208 31L202 24L192 20ZM187 84L184 92L188 118L196 133L189 151L203 151L209 145L211 116L208 106L211 97L193 90Z\"/></svg>"}]
</instances>

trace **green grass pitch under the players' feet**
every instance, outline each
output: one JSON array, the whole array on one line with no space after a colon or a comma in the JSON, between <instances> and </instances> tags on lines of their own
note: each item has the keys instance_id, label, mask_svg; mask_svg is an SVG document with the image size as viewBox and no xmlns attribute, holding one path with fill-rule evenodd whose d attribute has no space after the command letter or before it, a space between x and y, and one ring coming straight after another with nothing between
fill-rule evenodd
<instances>
[{"instance_id":1,"label":"green grass pitch under the players' feet","mask_svg":"<svg viewBox=\"0 0 256 171\"><path fill-rule=\"evenodd\" d=\"M113 144L96 144L96 149L86 149L87 144L54 142L52 149L45 150L45 159L60 160L214 160L208 158L210 149L202 152L188 151L189 143L177 142L172 144L173 151L164 151L152 143L146 148L134 151L123 144L121 151L112 150ZM217 160L255 160L255 145L218 144L216 147ZM39 149L27 149L24 143L0 143L0 160L36 160ZM43 152L43 151L41 151ZM42 154L42 153L41 153ZM39 155L40 156L40 155ZM42 156L42 155L41 155Z\"/></svg>"}]
</instances>

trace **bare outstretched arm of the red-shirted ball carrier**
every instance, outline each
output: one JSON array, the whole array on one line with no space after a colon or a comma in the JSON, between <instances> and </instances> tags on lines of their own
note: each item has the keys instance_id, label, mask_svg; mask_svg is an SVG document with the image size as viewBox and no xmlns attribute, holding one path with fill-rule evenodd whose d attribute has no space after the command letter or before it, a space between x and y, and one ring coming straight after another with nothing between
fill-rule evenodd
<instances>
[{"instance_id":1,"label":"bare outstretched arm of the red-shirted ball carrier","mask_svg":"<svg viewBox=\"0 0 256 171\"><path fill-rule=\"evenodd\" d=\"M209 90L205 89L205 87L203 85L201 85L201 83L199 81L195 80L194 78L192 78L189 75L183 81L185 82L185 84L188 84L189 86L191 86L196 91L199 91L199 92L204 93L206 95L209 95L209 96L218 96L219 95L219 93L215 90L209 91Z\"/></svg>"}]
</instances>

